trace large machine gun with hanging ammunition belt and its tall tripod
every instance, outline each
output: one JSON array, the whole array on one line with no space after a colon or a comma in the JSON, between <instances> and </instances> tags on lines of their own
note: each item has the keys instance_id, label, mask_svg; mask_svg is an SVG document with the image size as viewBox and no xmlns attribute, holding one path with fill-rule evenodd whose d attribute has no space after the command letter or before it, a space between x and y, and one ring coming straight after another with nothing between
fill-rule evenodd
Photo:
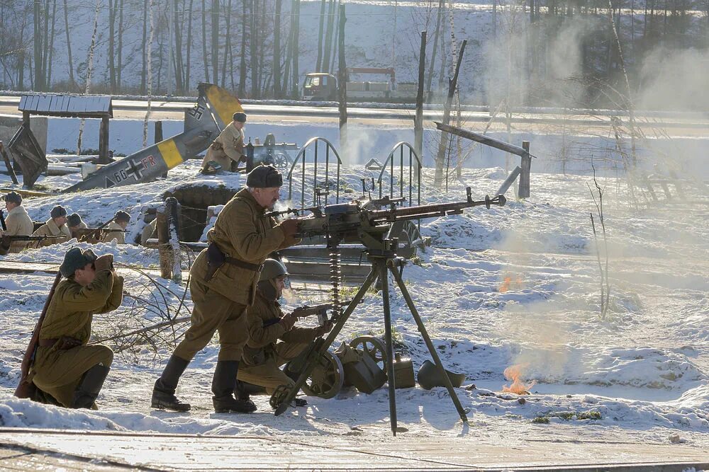
<instances>
[{"instance_id":1,"label":"large machine gun with hanging ammunition belt and its tall tripod","mask_svg":"<svg viewBox=\"0 0 709 472\"><path fill-rule=\"evenodd\" d=\"M394 391L394 376L393 376L393 347L391 343L391 312L389 310L389 278L388 272L396 280L408 309L411 311L413 318L418 325L425 343L428 347L431 357L434 359L436 367L439 369L442 379L446 383L446 388L450 397L457 408L460 418L467 422L466 413L458 397L453 390L452 384L440 358L437 355L435 347L428 336L423 321L418 314L418 310L413 304L411 295L406 289L406 285L401 277L401 267L403 260L396 255L398 240L391 236L391 227L395 221L406 219L423 219L433 217L443 217L451 214L462 214L463 210L471 207L485 205L490 208L491 205L503 206L506 203L504 195L490 198L485 197L484 200L475 201L472 198L470 188L467 188L467 201L443 203L435 205L420 205L415 207L396 207L401 199L379 201L379 205L387 206L389 209L369 209L368 205L362 202L352 201L350 203L342 203L337 205L328 205L326 207L311 207L308 209L293 210L287 209L284 212L274 212L272 214L301 214L303 211L310 211L312 214L308 217L298 218L298 236L301 238L308 236L325 236L328 241L330 250L330 283L332 285L332 316L330 323L333 323L333 330L327 338L318 338L310 350L305 355L305 362L301 364L301 369L298 372L298 380L296 384L289 388L288 386L280 386L273 393L270 403L276 408L275 415L281 415L289 407L291 402L296 397L296 394L301 389L303 384L308 381L308 376L311 375L313 369L318 364L322 365L328 347L332 345L337 335L342 330L347 318L350 317L354 308L364 298L367 289L372 286L374 281L379 278L381 283L381 294L384 308L384 337L386 338L386 372L389 372L389 416L391 422L391 431L396 436L398 430L396 426L396 398ZM354 298L349 303L340 301L340 251L339 244L342 242L361 242L366 250L367 258L372 264L372 269L369 275L364 280L364 283ZM344 311L342 309L344 308Z\"/></svg>"}]
</instances>

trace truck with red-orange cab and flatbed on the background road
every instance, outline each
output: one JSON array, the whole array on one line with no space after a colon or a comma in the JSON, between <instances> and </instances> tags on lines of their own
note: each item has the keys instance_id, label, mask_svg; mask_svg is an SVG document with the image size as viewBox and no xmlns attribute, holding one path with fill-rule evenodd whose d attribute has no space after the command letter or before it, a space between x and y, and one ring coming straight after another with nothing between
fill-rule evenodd
<instances>
[{"instance_id":1,"label":"truck with red-orange cab and flatbed on the background road","mask_svg":"<svg viewBox=\"0 0 709 472\"><path fill-rule=\"evenodd\" d=\"M411 103L416 100L418 85L413 82L396 83L394 69L378 67L347 67L347 100ZM352 81L352 74L384 74L388 81ZM424 92L424 100L427 93ZM337 100L337 78L326 72L306 74L303 82L303 100Z\"/></svg>"}]
</instances>

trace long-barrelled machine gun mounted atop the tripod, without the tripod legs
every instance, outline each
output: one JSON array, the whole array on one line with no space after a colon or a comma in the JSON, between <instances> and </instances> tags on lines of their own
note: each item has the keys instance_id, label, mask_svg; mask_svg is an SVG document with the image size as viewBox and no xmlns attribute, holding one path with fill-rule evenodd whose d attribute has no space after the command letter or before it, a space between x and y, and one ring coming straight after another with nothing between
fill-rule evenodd
<instances>
[{"instance_id":1,"label":"long-barrelled machine gun mounted atop the tripod, without the tripod legs","mask_svg":"<svg viewBox=\"0 0 709 472\"><path fill-rule=\"evenodd\" d=\"M363 236L386 233L394 221L462 214L466 208L481 205L485 205L488 209L491 205L503 207L507 202L504 195L498 195L493 198L486 195L484 200L475 201L472 198L469 187L466 192L467 201L465 202L419 205L415 207L396 207L395 200L389 202L389 209L369 209L357 200L353 200L350 203L328 205L323 208L320 214L313 212L308 217L296 218L298 220L296 237L328 236L328 238L335 238L337 241L362 241ZM368 246L368 244L365 243L365 246Z\"/></svg>"}]
</instances>

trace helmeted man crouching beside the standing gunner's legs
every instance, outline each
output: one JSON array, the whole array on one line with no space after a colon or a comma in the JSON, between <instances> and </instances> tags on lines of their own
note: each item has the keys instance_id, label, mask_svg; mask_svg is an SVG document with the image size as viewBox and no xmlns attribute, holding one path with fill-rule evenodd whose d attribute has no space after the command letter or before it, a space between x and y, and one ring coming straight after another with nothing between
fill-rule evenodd
<instances>
[{"instance_id":1,"label":"helmeted man crouching beside the standing gunner's legs","mask_svg":"<svg viewBox=\"0 0 709 472\"><path fill-rule=\"evenodd\" d=\"M242 401L249 399L251 386L266 388L271 395L278 386L293 386L294 381L281 371L281 365L298 357L316 338L328 333L332 324L318 328L295 328L294 313L284 315L278 299L283 294L288 277L286 266L278 260L267 259L257 285L256 301L247 309L249 340L244 347L242 367L239 369L238 392ZM296 406L305 406L303 398L296 398Z\"/></svg>"}]
</instances>

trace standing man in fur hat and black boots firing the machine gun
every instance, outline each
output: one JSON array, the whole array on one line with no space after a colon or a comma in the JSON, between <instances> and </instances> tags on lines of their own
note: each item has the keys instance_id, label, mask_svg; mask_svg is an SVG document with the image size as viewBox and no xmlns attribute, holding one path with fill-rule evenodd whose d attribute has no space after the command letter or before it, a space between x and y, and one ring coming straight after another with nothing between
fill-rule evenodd
<instances>
[{"instance_id":1,"label":"standing man in fur hat and black boots firing the machine gun","mask_svg":"<svg viewBox=\"0 0 709 472\"><path fill-rule=\"evenodd\" d=\"M246 180L247 188L225 205L207 233L209 246L190 269L189 288L194 301L191 326L170 357L152 391L152 408L186 411L190 405L174 395L187 364L219 331L219 357L212 379L212 401L217 413L251 413L252 402L233 393L243 348L248 340L245 311L254 303L259 272L273 251L292 246L298 223L276 224L265 212L279 199L283 177L272 166L258 166Z\"/></svg>"}]
</instances>

